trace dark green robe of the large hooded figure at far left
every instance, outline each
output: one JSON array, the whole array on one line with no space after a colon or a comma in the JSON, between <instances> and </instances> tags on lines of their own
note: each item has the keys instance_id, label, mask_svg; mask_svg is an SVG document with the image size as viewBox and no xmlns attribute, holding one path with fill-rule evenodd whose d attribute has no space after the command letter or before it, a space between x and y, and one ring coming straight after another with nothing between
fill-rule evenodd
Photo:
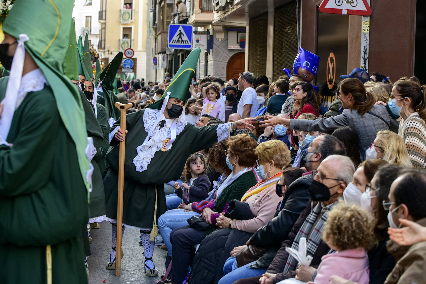
<instances>
[{"instance_id":1,"label":"dark green robe of the large hooded figure at far left","mask_svg":"<svg viewBox=\"0 0 426 284\"><path fill-rule=\"evenodd\" d=\"M7 80L0 79L0 100ZM87 283L78 239L87 223L87 190L77 152L49 86L29 92L0 145L0 283Z\"/></svg>"}]
</instances>

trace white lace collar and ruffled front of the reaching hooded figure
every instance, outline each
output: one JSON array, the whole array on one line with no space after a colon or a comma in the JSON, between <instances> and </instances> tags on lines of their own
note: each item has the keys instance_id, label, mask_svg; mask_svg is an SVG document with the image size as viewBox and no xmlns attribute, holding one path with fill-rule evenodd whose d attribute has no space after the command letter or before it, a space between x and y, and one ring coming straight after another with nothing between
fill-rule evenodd
<instances>
[{"instance_id":1,"label":"white lace collar and ruffled front of the reaching hooded figure","mask_svg":"<svg viewBox=\"0 0 426 284\"><path fill-rule=\"evenodd\" d=\"M151 163L151 159L154 157L155 152L157 152L163 147L164 141L166 141L166 139L169 139L170 141L172 127L165 125L162 128L160 128L160 126L154 125L155 120L157 119L158 112L159 112L158 109L144 110L144 117L142 118L142 120L144 122L145 131L147 133L151 133L151 130L152 130L153 132L150 139L145 145L136 147L136 151L138 152L138 155L133 159L133 164L136 166L137 172L143 172L144 170L146 170L148 165ZM176 122L176 137L177 137L182 132L182 130L184 129L184 127L187 125L188 122L180 118L176 118L174 121ZM167 123L167 120L166 120L166 123ZM171 147L171 143L167 145L166 151L168 151L170 147Z\"/></svg>"}]
</instances>

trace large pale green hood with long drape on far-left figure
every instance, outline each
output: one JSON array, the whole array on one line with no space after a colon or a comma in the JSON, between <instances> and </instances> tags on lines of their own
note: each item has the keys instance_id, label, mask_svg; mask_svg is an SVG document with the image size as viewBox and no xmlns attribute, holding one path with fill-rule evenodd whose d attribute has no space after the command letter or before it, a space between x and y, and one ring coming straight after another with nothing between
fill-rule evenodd
<instances>
[{"instance_id":1,"label":"large pale green hood with long drape on far-left figure","mask_svg":"<svg viewBox=\"0 0 426 284\"><path fill-rule=\"evenodd\" d=\"M86 122L80 93L63 75L62 63L69 41L72 9L75 0L20 0L15 1L3 31L19 38L26 34L25 48L43 72L55 96L58 112L70 137L75 143L81 176L86 187Z\"/></svg>"}]
</instances>

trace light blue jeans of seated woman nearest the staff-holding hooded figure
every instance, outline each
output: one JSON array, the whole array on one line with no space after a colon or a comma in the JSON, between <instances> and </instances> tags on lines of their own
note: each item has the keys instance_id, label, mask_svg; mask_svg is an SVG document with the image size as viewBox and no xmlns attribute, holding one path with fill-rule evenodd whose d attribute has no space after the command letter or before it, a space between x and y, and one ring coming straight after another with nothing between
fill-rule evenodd
<instances>
[{"instance_id":1,"label":"light blue jeans of seated woman nearest the staff-holding hooded figure","mask_svg":"<svg viewBox=\"0 0 426 284\"><path fill-rule=\"evenodd\" d=\"M187 220L193 215L200 215L200 213L196 213L193 211L184 212L184 209L173 209L167 210L163 215L160 216L160 218L158 218L158 231L160 232L161 237L163 237L163 241L167 247L167 253L169 256L172 256L172 243L170 242L170 233L173 229L182 226L187 226Z\"/></svg>"}]
</instances>

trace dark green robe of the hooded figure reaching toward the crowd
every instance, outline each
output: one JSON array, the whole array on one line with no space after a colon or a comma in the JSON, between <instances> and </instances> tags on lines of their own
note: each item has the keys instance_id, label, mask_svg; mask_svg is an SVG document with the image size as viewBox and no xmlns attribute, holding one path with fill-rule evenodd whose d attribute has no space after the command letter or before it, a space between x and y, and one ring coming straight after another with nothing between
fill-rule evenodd
<instances>
[{"instance_id":1,"label":"dark green robe of the hooded figure reaching toward the crowd","mask_svg":"<svg viewBox=\"0 0 426 284\"><path fill-rule=\"evenodd\" d=\"M147 169L137 172L133 159L138 155L136 147L147 137L143 116L145 109L126 115L126 151L124 155L124 202L123 223L139 228L152 228L155 210L155 186L157 187L156 219L166 211L164 183L180 178L182 169L189 155L202 149L210 148L218 141L216 129L219 125L196 127L187 123L182 132L176 136L173 146L163 152L158 150L151 159ZM113 131L120 125L118 120ZM118 195L118 141L111 140L107 152L107 173L104 178L107 217L117 218Z\"/></svg>"}]
</instances>

